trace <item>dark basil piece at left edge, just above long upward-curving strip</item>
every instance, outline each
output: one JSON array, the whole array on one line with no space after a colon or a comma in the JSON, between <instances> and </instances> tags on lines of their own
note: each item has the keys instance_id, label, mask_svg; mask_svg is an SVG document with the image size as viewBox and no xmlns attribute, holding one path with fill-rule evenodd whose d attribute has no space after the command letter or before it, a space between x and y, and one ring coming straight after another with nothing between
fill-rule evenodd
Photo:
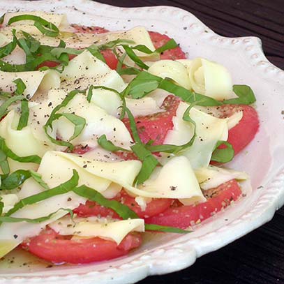
<instances>
[{"instance_id":1,"label":"dark basil piece at left edge, just above long upward-curving strip","mask_svg":"<svg viewBox=\"0 0 284 284\"><path fill-rule=\"evenodd\" d=\"M16 170L8 177L1 175L1 190L12 190L21 186L24 181L32 177L40 186L49 189L47 184L41 179L40 174L33 172L33 170Z\"/></svg>"}]
</instances>

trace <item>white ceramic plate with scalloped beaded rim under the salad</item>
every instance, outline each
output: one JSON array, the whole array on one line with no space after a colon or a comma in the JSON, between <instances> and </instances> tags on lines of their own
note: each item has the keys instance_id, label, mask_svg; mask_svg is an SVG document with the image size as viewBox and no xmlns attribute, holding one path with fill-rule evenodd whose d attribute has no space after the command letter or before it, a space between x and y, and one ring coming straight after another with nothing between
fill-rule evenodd
<instances>
[{"instance_id":1,"label":"white ceramic plate with scalloped beaded rim under the salad","mask_svg":"<svg viewBox=\"0 0 284 284\"><path fill-rule=\"evenodd\" d=\"M0 283L135 283L148 275L166 274L193 264L269 221L284 203L284 72L264 57L258 38L224 38L194 15L174 7L118 8L87 0L1 1L6 10L66 13L70 23L110 30L137 25L174 37L188 57L218 61L232 73L234 84L250 85L257 96L260 131L232 167L251 175L253 193L202 223L187 235L149 236L139 250L110 262L47 268L43 262L0 264ZM13 255L10 255L13 257ZM11 259L11 258L10 258ZM19 267L20 264L20 267Z\"/></svg>"}]
</instances>

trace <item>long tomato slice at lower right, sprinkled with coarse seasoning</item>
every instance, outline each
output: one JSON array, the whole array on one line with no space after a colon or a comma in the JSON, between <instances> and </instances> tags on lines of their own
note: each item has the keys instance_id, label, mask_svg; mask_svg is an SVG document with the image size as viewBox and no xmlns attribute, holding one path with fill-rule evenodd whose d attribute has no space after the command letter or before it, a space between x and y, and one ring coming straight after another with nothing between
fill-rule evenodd
<instances>
[{"instance_id":1,"label":"long tomato slice at lower right, sprinkled with coarse seasoning","mask_svg":"<svg viewBox=\"0 0 284 284\"><path fill-rule=\"evenodd\" d=\"M221 211L237 200L241 195L241 188L235 179L227 181L217 188L204 190L207 202L197 205L170 207L163 213L146 218L145 223L163 226L172 226L185 229Z\"/></svg>"}]
</instances>

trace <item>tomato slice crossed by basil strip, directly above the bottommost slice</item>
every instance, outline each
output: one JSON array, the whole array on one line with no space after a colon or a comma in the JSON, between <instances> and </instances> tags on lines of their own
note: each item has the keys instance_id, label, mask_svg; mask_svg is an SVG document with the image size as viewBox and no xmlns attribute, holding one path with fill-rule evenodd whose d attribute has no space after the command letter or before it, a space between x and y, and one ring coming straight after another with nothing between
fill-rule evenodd
<instances>
[{"instance_id":1,"label":"tomato slice crossed by basil strip, directly above the bottommost slice","mask_svg":"<svg viewBox=\"0 0 284 284\"><path fill-rule=\"evenodd\" d=\"M160 214L161 212L165 211L165 209L169 208L173 201L172 199L165 198L153 199L151 202L147 203L146 209L142 211L141 207L135 201L135 198L128 195L124 190L114 197L114 200L117 200L128 206L131 210L135 211L140 218L149 218L151 216ZM115 213L112 209L105 208L96 202L89 200L86 202L86 204L80 204L80 206L74 209L73 212L80 217L101 216L119 218L117 213Z\"/></svg>"}]
</instances>

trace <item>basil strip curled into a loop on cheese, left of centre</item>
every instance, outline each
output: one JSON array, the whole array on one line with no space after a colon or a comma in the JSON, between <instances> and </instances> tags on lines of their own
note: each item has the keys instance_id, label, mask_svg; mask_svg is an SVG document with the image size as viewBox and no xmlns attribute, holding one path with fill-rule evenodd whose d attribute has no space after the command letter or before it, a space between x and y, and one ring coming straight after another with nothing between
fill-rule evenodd
<instances>
[{"instance_id":1,"label":"basil strip curled into a loop on cheese, left of centre","mask_svg":"<svg viewBox=\"0 0 284 284\"><path fill-rule=\"evenodd\" d=\"M70 137L70 140L73 140L75 137L80 135L80 133L82 132L82 130L83 130L85 124L86 124L86 120L83 117L78 117L75 114L68 114L68 113L57 114L57 112L62 107L66 107L66 105L68 105L70 100L72 100L79 93L84 94L85 91L80 91L80 90L70 91L70 93L68 93L66 98L64 98L64 100L62 101L62 103L60 105L57 105L56 107L54 107L54 109L52 110L52 113L50 114L49 119L47 119L46 124L43 126L43 129L45 130L47 137L50 139L50 141L52 143L57 144L57 145L61 145L61 146L66 146L70 150L72 150L74 148L73 144L71 144L70 142L54 139L53 137L51 137L48 134L48 128L50 127L52 129L52 122L54 120L59 119L59 117L66 117L66 119L68 119L70 122L72 122L75 125L74 133L73 133L73 136Z\"/></svg>"}]
</instances>

